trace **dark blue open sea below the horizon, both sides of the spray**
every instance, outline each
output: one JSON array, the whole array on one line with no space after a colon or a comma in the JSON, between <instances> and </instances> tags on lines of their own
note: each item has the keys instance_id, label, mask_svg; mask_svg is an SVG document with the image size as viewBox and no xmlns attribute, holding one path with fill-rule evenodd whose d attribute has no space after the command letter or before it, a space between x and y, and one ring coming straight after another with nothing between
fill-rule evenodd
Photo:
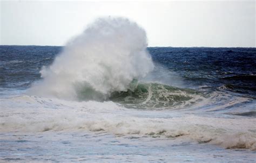
<instances>
[{"instance_id":1,"label":"dark blue open sea below the horizon, both sides of the spray","mask_svg":"<svg viewBox=\"0 0 256 163\"><path fill-rule=\"evenodd\" d=\"M256 94L256 48L148 47L154 63L176 72L187 87ZM28 89L60 46L0 46L0 87Z\"/></svg>"}]
</instances>

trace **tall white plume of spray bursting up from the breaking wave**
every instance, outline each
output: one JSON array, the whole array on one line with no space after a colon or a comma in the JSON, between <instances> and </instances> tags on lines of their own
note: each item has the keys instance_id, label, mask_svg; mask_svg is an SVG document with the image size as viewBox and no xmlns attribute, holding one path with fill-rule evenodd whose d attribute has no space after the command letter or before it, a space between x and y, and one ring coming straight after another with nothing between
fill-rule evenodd
<instances>
[{"instance_id":1,"label":"tall white plume of spray bursting up from the breaking wave","mask_svg":"<svg viewBox=\"0 0 256 163\"><path fill-rule=\"evenodd\" d=\"M98 18L72 39L30 94L62 99L107 98L153 70L146 32L126 18Z\"/></svg>"}]
</instances>

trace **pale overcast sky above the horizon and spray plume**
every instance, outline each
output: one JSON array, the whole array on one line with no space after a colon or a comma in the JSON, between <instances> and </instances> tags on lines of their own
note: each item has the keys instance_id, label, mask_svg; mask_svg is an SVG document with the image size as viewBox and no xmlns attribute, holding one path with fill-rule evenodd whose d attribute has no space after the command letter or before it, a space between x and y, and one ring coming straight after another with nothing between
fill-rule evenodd
<instances>
[{"instance_id":1,"label":"pale overcast sky above the horizon and spray plume","mask_svg":"<svg viewBox=\"0 0 256 163\"><path fill-rule=\"evenodd\" d=\"M0 0L1 1L1 0ZM137 22L149 46L255 47L255 1L1 1L1 45L65 45L97 17Z\"/></svg>"}]
</instances>

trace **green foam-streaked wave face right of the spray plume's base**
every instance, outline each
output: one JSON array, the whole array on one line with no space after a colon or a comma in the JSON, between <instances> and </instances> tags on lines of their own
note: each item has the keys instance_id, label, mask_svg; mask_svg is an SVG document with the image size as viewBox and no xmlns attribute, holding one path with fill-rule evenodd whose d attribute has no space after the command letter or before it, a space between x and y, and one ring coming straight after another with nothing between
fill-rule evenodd
<instances>
[{"instance_id":1,"label":"green foam-streaked wave face right of the spray plume's base","mask_svg":"<svg viewBox=\"0 0 256 163\"><path fill-rule=\"evenodd\" d=\"M189 107L204 98L203 93L159 83L135 83L126 92L114 92L110 100L131 108L167 108ZM135 85L135 86L134 86ZM136 86L137 85L137 86Z\"/></svg>"}]
</instances>

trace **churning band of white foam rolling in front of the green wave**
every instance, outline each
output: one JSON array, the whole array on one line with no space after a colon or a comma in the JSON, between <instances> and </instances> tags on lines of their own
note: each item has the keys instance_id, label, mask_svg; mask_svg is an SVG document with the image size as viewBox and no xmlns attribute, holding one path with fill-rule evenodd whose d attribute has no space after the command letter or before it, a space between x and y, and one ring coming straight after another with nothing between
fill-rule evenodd
<instances>
[{"instance_id":1,"label":"churning band of white foam rolling in front of the green wave","mask_svg":"<svg viewBox=\"0 0 256 163\"><path fill-rule=\"evenodd\" d=\"M106 131L256 150L255 118L139 111L111 101L75 102L29 96L1 99L0 108L1 132Z\"/></svg>"}]
</instances>

